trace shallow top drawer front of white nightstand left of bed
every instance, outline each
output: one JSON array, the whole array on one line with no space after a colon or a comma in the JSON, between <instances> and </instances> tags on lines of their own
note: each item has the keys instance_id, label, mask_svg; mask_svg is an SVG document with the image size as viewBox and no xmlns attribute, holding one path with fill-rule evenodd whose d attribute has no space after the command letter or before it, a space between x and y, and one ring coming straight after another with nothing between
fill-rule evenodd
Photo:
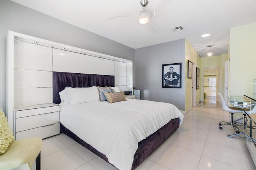
<instances>
[{"instance_id":1,"label":"shallow top drawer front of white nightstand left of bed","mask_svg":"<svg viewBox=\"0 0 256 170\"><path fill-rule=\"evenodd\" d=\"M56 111L60 111L60 106L20 110L20 111L16 111L16 118L27 117L27 116L32 116L32 115L39 115L39 114L44 114L44 113L52 113L52 112L56 112Z\"/></svg>"}]
</instances>

